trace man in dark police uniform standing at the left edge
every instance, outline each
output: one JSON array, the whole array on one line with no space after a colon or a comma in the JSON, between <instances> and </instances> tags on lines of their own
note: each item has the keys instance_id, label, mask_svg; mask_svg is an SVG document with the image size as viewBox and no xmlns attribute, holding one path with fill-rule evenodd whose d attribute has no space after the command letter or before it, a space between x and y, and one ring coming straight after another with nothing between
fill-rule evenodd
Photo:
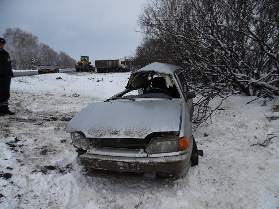
<instances>
[{"instance_id":1,"label":"man in dark police uniform standing at the left edge","mask_svg":"<svg viewBox=\"0 0 279 209\"><path fill-rule=\"evenodd\" d=\"M9 110L11 77L14 76L14 73L10 55L4 50L5 43L5 39L0 38L0 116L15 114Z\"/></svg>"}]
</instances>

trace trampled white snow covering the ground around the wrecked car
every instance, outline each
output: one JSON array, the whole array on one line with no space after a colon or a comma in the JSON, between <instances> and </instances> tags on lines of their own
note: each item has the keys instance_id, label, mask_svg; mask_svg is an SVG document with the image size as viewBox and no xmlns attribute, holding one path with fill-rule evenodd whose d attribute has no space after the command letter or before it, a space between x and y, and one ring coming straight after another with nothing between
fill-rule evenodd
<instances>
[{"instance_id":1,"label":"trampled white snow covering the ground around the wrecked car","mask_svg":"<svg viewBox=\"0 0 279 209\"><path fill-rule=\"evenodd\" d=\"M65 133L67 120L124 90L129 75L71 72L12 79L9 102L16 115L0 117L0 208L279 207L278 139L267 147L250 146L264 141L267 131L279 131L279 120L265 119L278 112L269 110L273 102L246 105L252 97L229 97L213 124L194 132L204 157L184 179L84 176Z\"/></svg>"}]
</instances>

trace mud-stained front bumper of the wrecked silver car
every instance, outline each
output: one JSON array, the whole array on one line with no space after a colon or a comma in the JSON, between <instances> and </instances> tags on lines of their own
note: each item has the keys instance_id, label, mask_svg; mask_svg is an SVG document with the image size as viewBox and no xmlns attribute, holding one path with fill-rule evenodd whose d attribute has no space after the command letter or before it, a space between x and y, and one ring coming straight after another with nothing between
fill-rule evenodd
<instances>
[{"instance_id":1,"label":"mud-stained front bumper of the wrecked silver car","mask_svg":"<svg viewBox=\"0 0 279 209\"><path fill-rule=\"evenodd\" d=\"M154 173L157 180L176 180L186 175L191 165L189 153L158 158L85 153L76 159L79 165L89 168L87 176L102 178L134 179L142 178L144 173Z\"/></svg>"}]
</instances>

